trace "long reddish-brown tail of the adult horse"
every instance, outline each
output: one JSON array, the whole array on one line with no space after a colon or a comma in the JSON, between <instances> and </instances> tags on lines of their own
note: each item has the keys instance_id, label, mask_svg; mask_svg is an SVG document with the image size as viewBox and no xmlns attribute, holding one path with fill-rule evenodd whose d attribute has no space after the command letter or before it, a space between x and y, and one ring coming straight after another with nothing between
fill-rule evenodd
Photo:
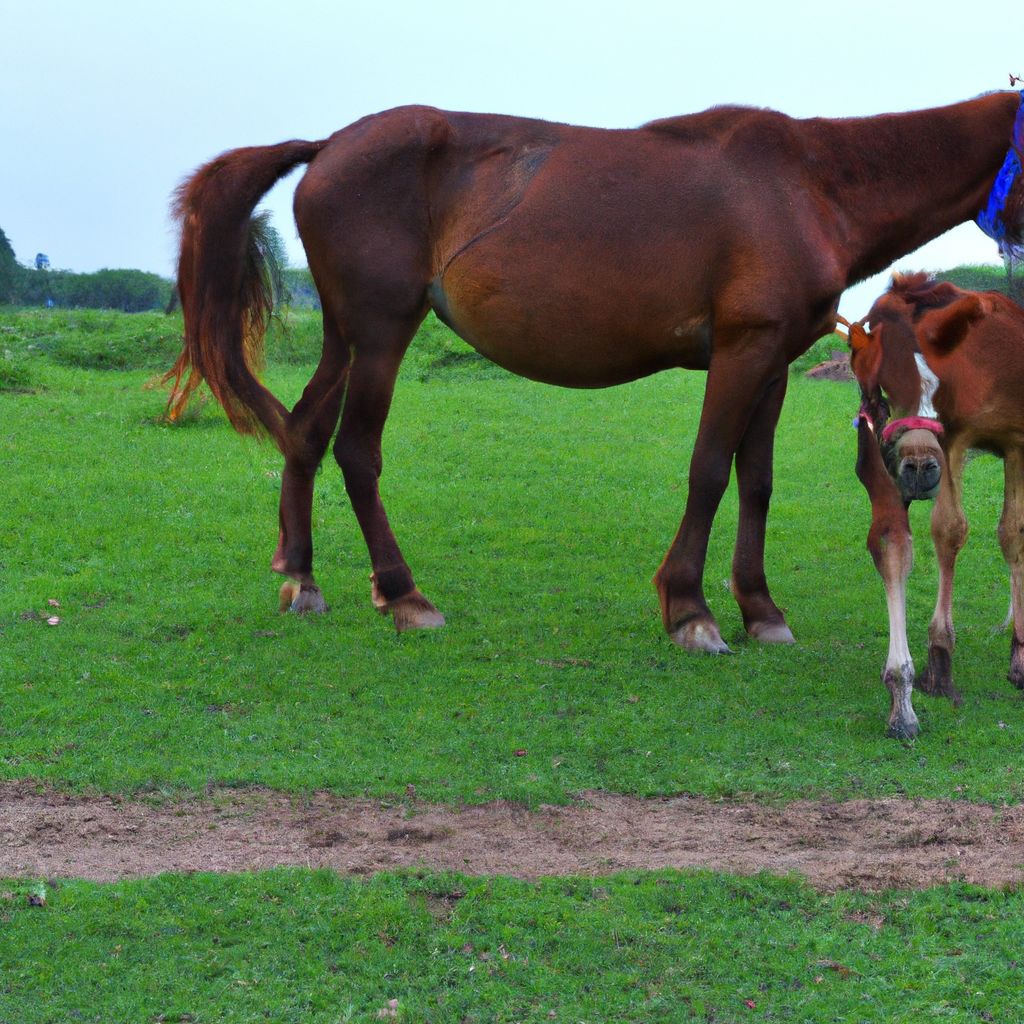
<instances>
[{"instance_id":1,"label":"long reddish-brown tail of the adult horse","mask_svg":"<svg viewBox=\"0 0 1024 1024\"><path fill-rule=\"evenodd\" d=\"M202 380L240 433L266 432L284 447L285 407L256 379L273 310L272 246L260 198L324 142L232 150L201 167L175 194L181 225L178 295L184 347L165 375L168 417L181 415Z\"/></svg>"}]
</instances>

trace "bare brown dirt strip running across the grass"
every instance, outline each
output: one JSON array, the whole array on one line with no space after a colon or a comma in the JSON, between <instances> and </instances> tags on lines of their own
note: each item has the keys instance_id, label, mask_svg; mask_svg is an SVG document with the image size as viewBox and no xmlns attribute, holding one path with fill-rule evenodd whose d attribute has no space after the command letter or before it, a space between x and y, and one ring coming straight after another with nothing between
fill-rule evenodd
<instances>
[{"instance_id":1,"label":"bare brown dirt strip running across the grass","mask_svg":"<svg viewBox=\"0 0 1024 1024\"><path fill-rule=\"evenodd\" d=\"M97 882L163 871L299 865L536 879L631 868L796 872L823 891L1024 883L1024 807L953 801L800 801L587 793L571 807L387 805L218 791L147 802L0 783L0 877Z\"/></svg>"}]
</instances>

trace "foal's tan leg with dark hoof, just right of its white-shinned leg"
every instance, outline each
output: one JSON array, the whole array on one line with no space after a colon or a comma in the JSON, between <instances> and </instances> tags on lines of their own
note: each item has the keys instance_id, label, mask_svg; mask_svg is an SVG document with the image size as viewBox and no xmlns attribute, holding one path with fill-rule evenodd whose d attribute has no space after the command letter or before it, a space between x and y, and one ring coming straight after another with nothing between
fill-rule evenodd
<instances>
[{"instance_id":1,"label":"foal's tan leg with dark hoof, just right of its white-shinned leg","mask_svg":"<svg viewBox=\"0 0 1024 1024\"><path fill-rule=\"evenodd\" d=\"M946 467L932 509L932 540L939 563L939 593L928 627L928 668L918 677L918 689L933 696L949 697L959 705L953 685L952 653L956 644L953 630L953 570L956 556L967 543L968 524L964 516L964 461L967 446L953 437L946 450Z\"/></svg>"}]
</instances>

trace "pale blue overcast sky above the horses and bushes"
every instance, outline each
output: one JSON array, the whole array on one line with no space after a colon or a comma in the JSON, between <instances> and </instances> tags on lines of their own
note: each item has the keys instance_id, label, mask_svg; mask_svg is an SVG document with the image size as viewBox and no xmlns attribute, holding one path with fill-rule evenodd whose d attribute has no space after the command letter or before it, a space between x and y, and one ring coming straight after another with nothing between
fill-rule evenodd
<instances>
[{"instance_id":1,"label":"pale blue overcast sky above the horses and bushes","mask_svg":"<svg viewBox=\"0 0 1024 1024\"><path fill-rule=\"evenodd\" d=\"M0 228L23 263L170 276L170 194L233 146L323 138L411 102L598 127L716 103L936 106L1024 74L1024 4L990 10L986 25L934 0L0 0ZM300 173L264 204L299 266ZM962 225L899 266L997 262ZM886 280L841 309L862 315Z\"/></svg>"}]
</instances>

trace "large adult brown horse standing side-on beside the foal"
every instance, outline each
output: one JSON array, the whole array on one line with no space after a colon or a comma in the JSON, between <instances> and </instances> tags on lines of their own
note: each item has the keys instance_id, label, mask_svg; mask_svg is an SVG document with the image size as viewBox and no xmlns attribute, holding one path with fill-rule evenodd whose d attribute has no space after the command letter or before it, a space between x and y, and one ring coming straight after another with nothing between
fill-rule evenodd
<instances>
[{"instance_id":1,"label":"large adult brown horse standing side-on beside the foal","mask_svg":"<svg viewBox=\"0 0 1024 1024\"><path fill-rule=\"evenodd\" d=\"M444 622L378 492L398 365L429 309L496 362L551 384L706 370L685 515L654 578L665 627L683 647L728 650L702 577L735 460L732 591L751 636L792 642L764 573L786 367L833 329L844 289L978 213L1019 101L1001 92L835 121L728 106L614 131L404 106L323 141L232 151L178 196L185 347L172 415L202 376L239 430L266 431L284 453L271 564L298 583L298 611L325 607L310 508L340 416L334 454L373 600L402 630ZM324 350L289 412L252 369L269 299L251 214L303 163L295 216Z\"/></svg>"}]
</instances>

